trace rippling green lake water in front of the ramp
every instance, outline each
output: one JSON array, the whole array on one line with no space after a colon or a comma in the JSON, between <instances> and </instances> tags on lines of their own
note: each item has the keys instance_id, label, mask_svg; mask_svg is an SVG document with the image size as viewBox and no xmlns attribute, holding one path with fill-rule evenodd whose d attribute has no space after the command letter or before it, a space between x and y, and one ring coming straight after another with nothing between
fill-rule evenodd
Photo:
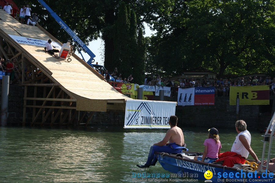
<instances>
[{"instance_id":1,"label":"rippling green lake water in front of the ramp","mask_svg":"<svg viewBox=\"0 0 275 183\"><path fill-rule=\"evenodd\" d=\"M234 128L218 129L222 152L230 151ZM144 172L136 164L146 162L150 146L166 131L0 127L0 182L133 182L133 173ZM249 131L260 159L263 134ZM186 128L183 133L189 151L203 152L207 129ZM170 173L159 163L146 172Z\"/></svg>"}]
</instances>

